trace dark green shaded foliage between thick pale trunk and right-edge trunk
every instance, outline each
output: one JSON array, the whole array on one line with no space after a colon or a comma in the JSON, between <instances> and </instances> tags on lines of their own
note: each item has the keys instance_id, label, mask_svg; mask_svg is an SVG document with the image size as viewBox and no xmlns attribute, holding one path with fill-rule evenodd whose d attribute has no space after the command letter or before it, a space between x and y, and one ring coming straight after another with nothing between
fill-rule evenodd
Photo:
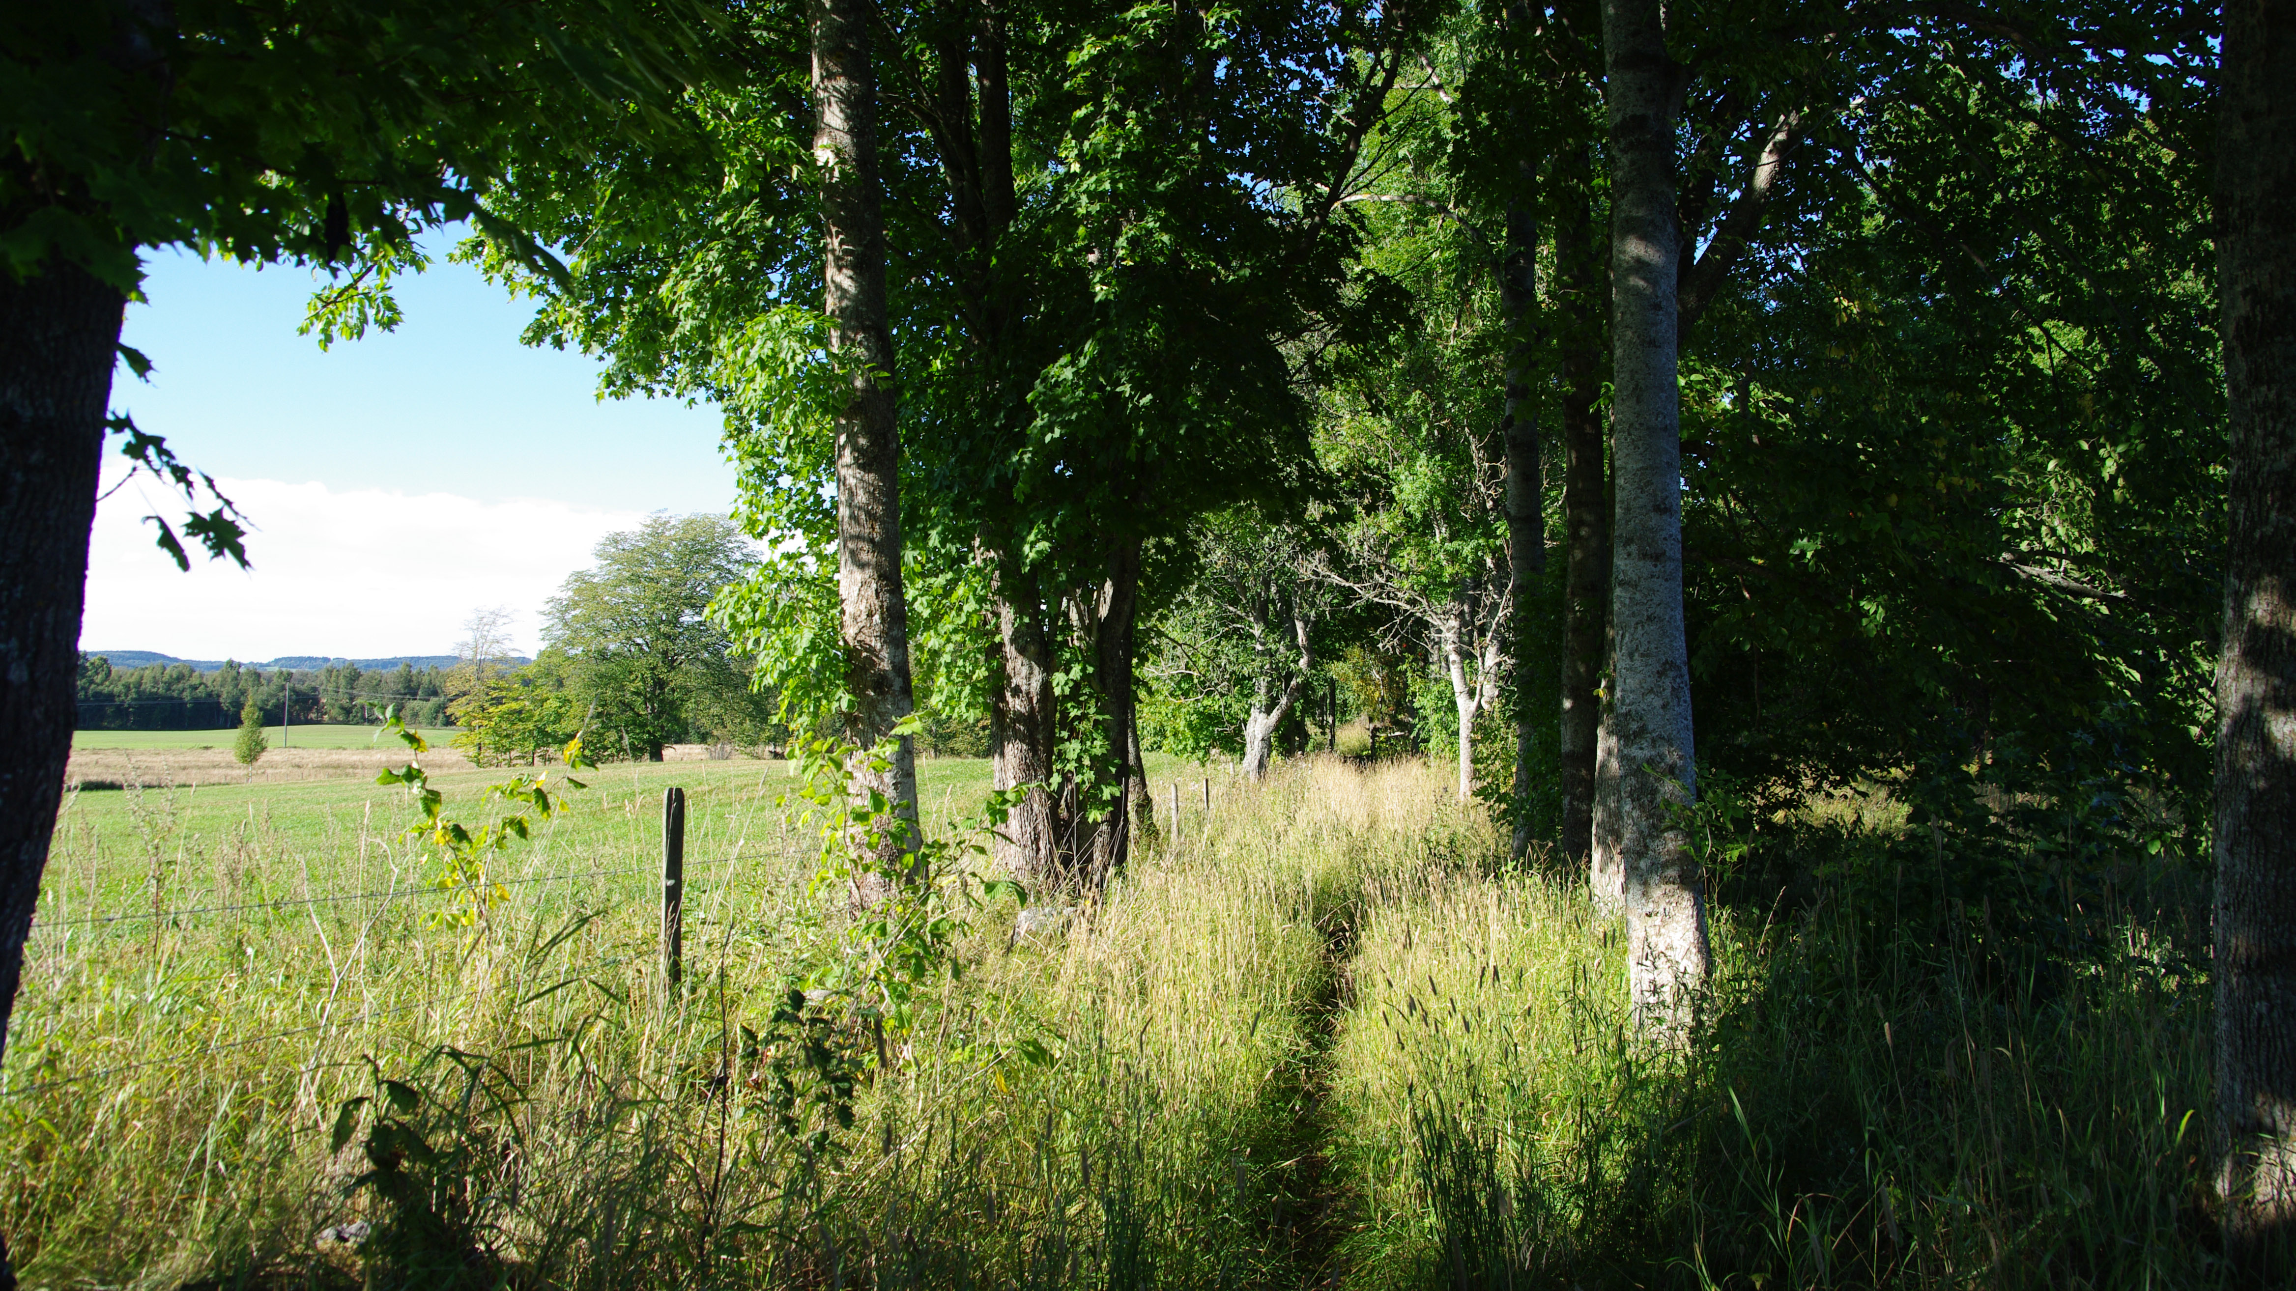
<instances>
[{"instance_id":1,"label":"dark green shaded foliage between thick pale trunk and right-edge trunk","mask_svg":"<svg viewBox=\"0 0 2296 1291\"><path fill-rule=\"evenodd\" d=\"M2223 524L2209 117L2050 96L2014 57L1894 69L1908 96L1885 101L1924 108L1839 124L1869 161L1807 177L1793 271L1697 340L1699 749L1789 797L1965 765L2066 809L2110 763L2197 827Z\"/></svg>"}]
</instances>

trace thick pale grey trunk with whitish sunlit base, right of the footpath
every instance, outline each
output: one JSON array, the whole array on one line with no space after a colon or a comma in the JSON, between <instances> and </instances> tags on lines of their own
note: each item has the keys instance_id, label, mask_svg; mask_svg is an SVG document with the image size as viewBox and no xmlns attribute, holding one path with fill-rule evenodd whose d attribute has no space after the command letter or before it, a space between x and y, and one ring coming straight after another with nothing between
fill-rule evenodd
<instances>
[{"instance_id":1,"label":"thick pale grey trunk with whitish sunlit base, right of the footpath","mask_svg":"<svg viewBox=\"0 0 2296 1291\"><path fill-rule=\"evenodd\" d=\"M1697 857L1678 811L1697 797L1683 641L1683 471L1676 386L1674 117L1683 69L1660 0L1603 0L1612 156L1612 425L1619 471L1616 664L1603 774L1616 776L1632 1006L1678 1031L1708 967Z\"/></svg>"}]
</instances>

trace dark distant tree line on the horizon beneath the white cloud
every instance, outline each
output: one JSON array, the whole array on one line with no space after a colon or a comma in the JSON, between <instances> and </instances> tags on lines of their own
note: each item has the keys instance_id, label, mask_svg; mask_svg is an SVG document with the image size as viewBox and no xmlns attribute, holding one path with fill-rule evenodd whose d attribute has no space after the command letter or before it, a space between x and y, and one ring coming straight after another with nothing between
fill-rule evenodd
<instances>
[{"instance_id":1,"label":"dark distant tree line on the horizon beneath the white cloud","mask_svg":"<svg viewBox=\"0 0 2296 1291\"><path fill-rule=\"evenodd\" d=\"M441 668L243 668L225 662L214 673L191 664L113 668L103 655L80 655L80 730L225 730L253 701L264 724L358 726L400 705L411 726L443 726L452 698Z\"/></svg>"}]
</instances>

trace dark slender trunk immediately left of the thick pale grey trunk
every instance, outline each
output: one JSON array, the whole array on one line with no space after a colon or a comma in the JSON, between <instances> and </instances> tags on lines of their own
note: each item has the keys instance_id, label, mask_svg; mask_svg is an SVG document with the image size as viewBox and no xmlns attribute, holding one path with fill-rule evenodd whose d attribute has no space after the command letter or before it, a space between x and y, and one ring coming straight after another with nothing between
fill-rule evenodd
<instances>
[{"instance_id":1,"label":"dark slender trunk immediately left of the thick pale grey trunk","mask_svg":"<svg viewBox=\"0 0 2296 1291\"><path fill-rule=\"evenodd\" d=\"M1564 395L1564 666L1561 666L1561 848L1593 864L1596 733L1603 726L1596 685L1603 678L1609 620L1609 519L1603 496L1603 260L1593 239L1591 149L1561 168L1564 218L1554 227L1554 262L1566 283L1568 335L1561 347ZM1619 868L1589 871L1596 903L1616 910Z\"/></svg>"}]
</instances>

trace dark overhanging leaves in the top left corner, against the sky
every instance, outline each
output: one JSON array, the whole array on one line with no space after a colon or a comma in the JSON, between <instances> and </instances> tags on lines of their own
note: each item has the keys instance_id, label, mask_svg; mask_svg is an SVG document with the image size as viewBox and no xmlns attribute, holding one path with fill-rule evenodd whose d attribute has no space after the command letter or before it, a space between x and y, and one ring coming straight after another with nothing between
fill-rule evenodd
<instances>
[{"instance_id":1,"label":"dark overhanging leaves in the top left corner, against the sky","mask_svg":"<svg viewBox=\"0 0 2296 1291\"><path fill-rule=\"evenodd\" d=\"M14 5L0 16L0 273L71 266L131 294L156 246L356 264L312 308L321 338L397 322L388 273L425 227L473 221L501 255L563 273L480 195L563 117L641 136L693 78L712 16L689 0ZM152 368L129 347L122 358ZM179 567L184 538L248 563L243 517L214 478L124 416L106 430L191 503L174 524L147 517Z\"/></svg>"}]
</instances>

